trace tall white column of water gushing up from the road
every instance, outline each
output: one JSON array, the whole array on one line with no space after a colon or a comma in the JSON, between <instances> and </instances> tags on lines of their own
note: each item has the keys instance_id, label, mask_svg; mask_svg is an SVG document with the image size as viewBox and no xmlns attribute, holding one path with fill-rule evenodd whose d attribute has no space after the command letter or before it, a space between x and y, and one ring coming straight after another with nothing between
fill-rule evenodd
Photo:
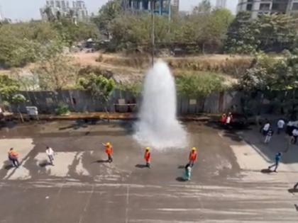
<instances>
[{"instance_id":1,"label":"tall white column of water gushing up from the road","mask_svg":"<svg viewBox=\"0 0 298 223\"><path fill-rule=\"evenodd\" d=\"M185 147L187 133L176 118L176 110L175 80L167 64L157 62L149 70L143 86L135 135L140 144L156 149Z\"/></svg>"}]
</instances>

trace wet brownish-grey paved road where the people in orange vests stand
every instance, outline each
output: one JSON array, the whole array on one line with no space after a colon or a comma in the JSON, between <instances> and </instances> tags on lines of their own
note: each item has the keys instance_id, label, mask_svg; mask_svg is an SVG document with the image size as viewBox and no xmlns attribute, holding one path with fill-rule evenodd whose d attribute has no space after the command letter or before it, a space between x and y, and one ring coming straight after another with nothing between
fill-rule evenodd
<instances>
[{"instance_id":1,"label":"wet brownish-grey paved road where the people in orange vests stand","mask_svg":"<svg viewBox=\"0 0 298 223\"><path fill-rule=\"evenodd\" d=\"M199 122L184 124L185 148L155 151L142 168L143 149L131 122L48 122L0 130L0 222L298 222L298 147L284 155L278 173L261 173L285 135L269 146L256 130L229 132ZM101 142L114 144L104 162ZM57 152L47 165L45 145ZM181 182L189 147L199 148L192 181ZM15 147L22 166L11 168Z\"/></svg>"}]
</instances>

